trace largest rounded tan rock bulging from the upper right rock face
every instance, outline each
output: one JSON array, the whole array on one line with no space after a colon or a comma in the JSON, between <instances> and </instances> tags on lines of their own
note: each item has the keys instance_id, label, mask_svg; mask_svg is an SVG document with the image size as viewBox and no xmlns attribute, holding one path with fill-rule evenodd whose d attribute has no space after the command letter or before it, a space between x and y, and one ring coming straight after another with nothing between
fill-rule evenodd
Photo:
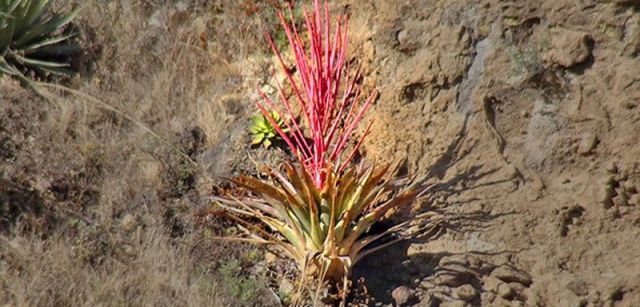
<instances>
[{"instance_id":1,"label":"largest rounded tan rock bulging from the upper right rock face","mask_svg":"<svg viewBox=\"0 0 640 307\"><path fill-rule=\"evenodd\" d=\"M584 32L569 29L554 31L548 58L551 62L569 68L591 56L591 37Z\"/></svg>"}]
</instances>

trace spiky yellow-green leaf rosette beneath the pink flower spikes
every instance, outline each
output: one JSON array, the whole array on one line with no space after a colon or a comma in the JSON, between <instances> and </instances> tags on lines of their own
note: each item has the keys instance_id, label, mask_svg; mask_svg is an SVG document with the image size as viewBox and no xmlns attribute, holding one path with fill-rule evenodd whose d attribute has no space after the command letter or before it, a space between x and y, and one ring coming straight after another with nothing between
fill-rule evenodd
<instances>
[{"instance_id":1,"label":"spiky yellow-green leaf rosette beneath the pink flower spikes","mask_svg":"<svg viewBox=\"0 0 640 307\"><path fill-rule=\"evenodd\" d=\"M215 199L230 212L257 218L277 232L279 236L236 218L254 239L281 247L303 273L340 281L364 256L394 242L373 244L398 227L367 235L370 227L419 196L420 189L408 185L408 178L394 178L396 169L351 166L340 175L328 173L319 189L306 171L284 164L284 173L267 170L271 182L231 179L257 197Z\"/></svg>"}]
</instances>

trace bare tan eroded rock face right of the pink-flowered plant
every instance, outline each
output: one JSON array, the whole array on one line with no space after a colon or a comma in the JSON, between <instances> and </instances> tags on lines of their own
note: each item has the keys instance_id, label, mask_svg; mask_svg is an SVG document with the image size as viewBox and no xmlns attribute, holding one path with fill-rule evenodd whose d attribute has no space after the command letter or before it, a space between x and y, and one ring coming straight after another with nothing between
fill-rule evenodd
<instances>
[{"instance_id":1,"label":"bare tan eroded rock face right of the pink-flowered plant","mask_svg":"<svg viewBox=\"0 0 640 307\"><path fill-rule=\"evenodd\" d=\"M640 301L624 290L640 287L638 4L342 3L352 44L375 50L365 83L381 94L364 156L430 174L433 192L409 216L438 208L450 221L381 256L420 304ZM407 262L421 269L400 270ZM401 283L386 280L395 286L377 295L391 302Z\"/></svg>"}]
</instances>

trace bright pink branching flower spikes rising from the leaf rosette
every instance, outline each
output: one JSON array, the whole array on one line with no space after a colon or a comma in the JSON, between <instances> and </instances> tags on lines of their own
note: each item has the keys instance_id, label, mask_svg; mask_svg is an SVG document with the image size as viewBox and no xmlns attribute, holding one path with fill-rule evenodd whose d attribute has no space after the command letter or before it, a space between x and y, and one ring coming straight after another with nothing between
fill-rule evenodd
<instances>
[{"instance_id":1,"label":"bright pink branching flower spikes rising from the leaf rosette","mask_svg":"<svg viewBox=\"0 0 640 307\"><path fill-rule=\"evenodd\" d=\"M276 103L262 91L260 95L264 103L258 101L256 104L303 165L316 187L322 188L326 173L332 171L331 167L335 168L333 171L342 172L369 134L371 123L367 125L358 142L350 146L349 136L375 99L377 92L374 91L368 98L361 100L362 91L357 84L359 71L349 76L346 57L347 17L338 17L332 37L329 5L326 1L324 8L321 8L319 1L314 0L314 11L303 11L303 14L308 39L307 48L296 28L291 7L291 24L288 24L283 14L278 12L291 53L295 57L293 66L298 72L299 84L294 81L292 70L287 67L282 54L267 35L267 41L278 57L286 76L286 83L291 87L293 98L287 97L282 84L276 79L280 105L276 106ZM290 99L295 100L297 112L300 114L296 114ZM290 131L289 135L276 124L269 110L284 119L286 128ZM297 122L297 118L305 123L307 134Z\"/></svg>"}]
</instances>

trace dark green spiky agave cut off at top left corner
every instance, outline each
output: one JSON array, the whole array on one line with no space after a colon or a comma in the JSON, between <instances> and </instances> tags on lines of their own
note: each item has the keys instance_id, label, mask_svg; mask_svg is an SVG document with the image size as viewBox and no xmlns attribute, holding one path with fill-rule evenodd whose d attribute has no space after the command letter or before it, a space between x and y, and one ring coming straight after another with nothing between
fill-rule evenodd
<instances>
[{"instance_id":1,"label":"dark green spiky agave cut off at top left corner","mask_svg":"<svg viewBox=\"0 0 640 307\"><path fill-rule=\"evenodd\" d=\"M33 71L41 77L69 74L64 59L78 52L63 33L78 13L47 14L49 0L0 0L0 74L24 77Z\"/></svg>"}]
</instances>

